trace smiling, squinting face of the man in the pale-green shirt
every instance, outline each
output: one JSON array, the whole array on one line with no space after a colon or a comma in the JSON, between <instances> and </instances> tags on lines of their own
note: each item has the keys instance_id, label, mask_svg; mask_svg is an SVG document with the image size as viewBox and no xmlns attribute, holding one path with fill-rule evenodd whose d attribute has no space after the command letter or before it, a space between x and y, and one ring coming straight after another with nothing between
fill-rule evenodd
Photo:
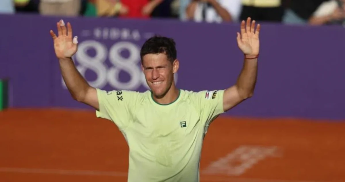
<instances>
[{"instance_id":1,"label":"smiling, squinting face of the man in the pale-green shirt","mask_svg":"<svg viewBox=\"0 0 345 182\"><path fill-rule=\"evenodd\" d=\"M178 60L171 63L167 56L147 54L142 58L142 71L151 91L158 98L164 96L174 81L174 73L178 70Z\"/></svg>"}]
</instances>

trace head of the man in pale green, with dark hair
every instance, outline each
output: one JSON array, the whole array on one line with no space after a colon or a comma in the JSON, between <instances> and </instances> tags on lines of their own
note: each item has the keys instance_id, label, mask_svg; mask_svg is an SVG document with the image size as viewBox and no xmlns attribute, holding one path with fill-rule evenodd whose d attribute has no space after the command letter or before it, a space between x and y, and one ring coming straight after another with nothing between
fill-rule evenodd
<instances>
[{"instance_id":1,"label":"head of the man in pale green, with dark hair","mask_svg":"<svg viewBox=\"0 0 345 182\"><path fill-rule=\"evenodd\" d=\"M153 94L161 98L171 88L179 62L175 41L172 38L154 36L140 50L142 71Z\"/></svg>"}]
</instances>

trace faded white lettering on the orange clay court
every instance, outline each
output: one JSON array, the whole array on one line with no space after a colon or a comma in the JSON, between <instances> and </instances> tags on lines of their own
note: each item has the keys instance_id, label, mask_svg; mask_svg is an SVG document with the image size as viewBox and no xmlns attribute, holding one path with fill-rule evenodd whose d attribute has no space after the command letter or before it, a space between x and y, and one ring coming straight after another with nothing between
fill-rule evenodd
<instances>
[{"instance_id":1,"label":"faded white lettering on the orange clay court","mask_svg":"<svg viewBox=\"0 0 345 182\"><path fill-rule=\"evenodd\" d=\"M212 162L203 173L239 176L266 157L277 157L276 146L240 146L227 156Z\"/></svg>"}]
</instances>

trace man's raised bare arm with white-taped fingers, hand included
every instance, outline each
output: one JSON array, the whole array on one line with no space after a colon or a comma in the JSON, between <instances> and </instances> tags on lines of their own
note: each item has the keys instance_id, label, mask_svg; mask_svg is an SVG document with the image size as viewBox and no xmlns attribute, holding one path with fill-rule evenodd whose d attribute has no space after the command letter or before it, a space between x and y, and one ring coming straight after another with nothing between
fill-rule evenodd
<instances>
[{"instance_id":1,"label":"man's raised bare arm with white-taped fingers, hand included","mask_svg":"<svg viewBox=\"0 0 345 182\"><path fill-rule=\"evenodd\" d=\"M60 20L56 25L58 36L52 30L50 30L50 35L54 41L55 54L59 59L62 78L67 89L73 99L99 110L96 89L91 87L81 76L72 60L72 56L77 52L78 40L77 36L72 36L71 24L67 23L66 27L63 20Z\"/></svg>"}]
</instances>

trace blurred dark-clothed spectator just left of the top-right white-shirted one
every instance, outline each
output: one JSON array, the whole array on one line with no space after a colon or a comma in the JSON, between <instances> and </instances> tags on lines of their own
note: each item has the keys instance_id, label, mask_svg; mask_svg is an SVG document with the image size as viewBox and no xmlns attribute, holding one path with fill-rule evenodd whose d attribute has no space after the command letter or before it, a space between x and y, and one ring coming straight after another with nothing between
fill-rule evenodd
<instances>
[{"instance_id":1,"label":"blurred dark-clothed spectator just left of the top-right white-shirted one","mask_svg":"<svg viewBox=\"0 0 345 182\"><path fill-rule=\"evenodd\" d=\"M285 24L307 24L316 9L329 0L290 0L283 15Z\"/></svg>"}]
</instances>

